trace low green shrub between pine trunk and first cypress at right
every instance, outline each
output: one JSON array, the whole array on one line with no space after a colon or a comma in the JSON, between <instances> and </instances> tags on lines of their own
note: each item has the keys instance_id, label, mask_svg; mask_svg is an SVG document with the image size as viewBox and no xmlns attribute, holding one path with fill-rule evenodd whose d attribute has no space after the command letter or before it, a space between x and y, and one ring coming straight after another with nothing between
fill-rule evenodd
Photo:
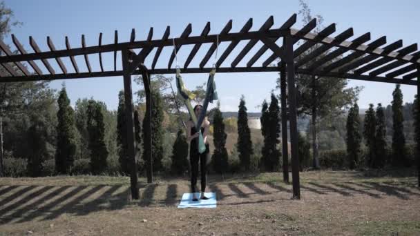
<instances>
[{"instance_id":1,"label":"low green shrub between pine trunk and first cypress at right","mask_svg":"<svg viewBox=\"0 0 420 236\"><path fill-rule=\"evenodd\" d=\"M319 153L319 164L321 168L332 168L343 170L347 168L347 151L344 149L325 150Z\"/></svg>"}]
</instances>

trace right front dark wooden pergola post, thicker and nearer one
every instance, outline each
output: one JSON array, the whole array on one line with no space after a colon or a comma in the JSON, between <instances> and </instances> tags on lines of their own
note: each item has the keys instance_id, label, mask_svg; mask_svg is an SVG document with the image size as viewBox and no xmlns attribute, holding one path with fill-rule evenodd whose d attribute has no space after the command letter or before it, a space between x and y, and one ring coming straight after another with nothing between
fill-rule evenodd
<instances>
[{"instance_id":1,"label":"right front dark wooden pergola post, thicker and nearer one","mask_svg":"<svg viewBox=\"0 0 420 236\"><path fill-rule=\"evenodd\" d=\"M298 124L296 112L296 87L294 79L294 56L293 38L288 35L285 37L285 62L287 66L287 83L289 87L289 122L290 122L290 144L292 153L292 181L293 198L300 199L299 182L299 155L298 155Z\"/></svg>"}]
</instances>

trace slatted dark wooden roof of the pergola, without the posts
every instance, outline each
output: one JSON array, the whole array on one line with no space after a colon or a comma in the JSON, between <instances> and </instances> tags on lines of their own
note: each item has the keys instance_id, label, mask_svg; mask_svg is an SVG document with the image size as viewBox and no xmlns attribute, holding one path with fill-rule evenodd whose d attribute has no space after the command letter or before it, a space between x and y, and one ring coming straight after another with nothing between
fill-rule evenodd
<instances>
[{"instance_id":1,"label":"slatted dark wooden roof of the pergola, without the posts","mask_svg":"<svg viewBox=\"0 0 420 236\"><path fill-rule=\"evenodd\" d=\"M139 55L142 56L144 61L146 57L149 57L153 48L157 48L155 55L153 57L153 63L151 65L151 72L156 73L172 73L173 70L173 60L175 59L175 52L173 51L171 57L169 58L167 68L155 68L156 63L160 57L162 49L164 47L173 47L173 41L175 41L175 48L178 52L180 48L184 45L193 44L192 50L189 52L189 56L184 61L184 66L182 72L197 72L201 70L202 72L208 71L209 68L204 68L211 56L216 51L216 40L218 37L219 43L229 42L226 50L221 53L220 58L216 62L216 67L220 71L225 72L253 72L253 71L277 71L271 68L271 63L278 59L278 54L273 51L273 53L265 59L262 63L262 66L255 66L256 61L262 57L262 55L269 50L270 46L267 44L276 43L278 39L284 37L288 33L292 35L293 43L301 40L303 43L294 50L294 58L296 60L296 72L325 76L325 77L343 77L349 79L363 79L371 81L384 81L392 83L407 83L415 84L411 79L417 77L417 65L419 65L420 52L417 51L417 43L414 43L410 46L397 50L402 46L402 41L396 41L379 48L386 43L386 38L381 37L370 43L370 33L366 33L351 41L347 41L350 37L353 36L352 28L345 30L339 33L336 37L331 37L335 31L335 23L330 24L318 34L312 33L316 27L316 20L310 21L306 26L300 30L292 29L291 27L296 23L296 14L289 17L285 23L280 28L271 29L274 26L274 17L269 17L265 23L257 30L250 31L252 26L252 19L249 19L242 29L239 32L231 33L232 21L229 21L225 28L221 30L219 35L209 35L210 32L210 23L207 23L204 29L202 30L200 36L191 37L192 26L191 23L184 29L180 37L169 38L170 28L166 28L162 39L153 40L153 28L149 30L149 35L144 41L135 41L135 31L132 30L130 41L128 42L119 42L118 41L118 32L115 30L114 43L102 45L102 33L99 35L99 45L98 46L86 46L85 37L82 35L82 47L81 48L71 48L66 37L66 49L57 50L55 48L53 41L50 37L47 37L47 44L50 48L50 52L41 52L39 46L35 42L35 39L30 37L30 46L35 51L34 53L28 53L24 50L23 46L19 40L12 35L12 41L21 53L20 55L13 55L10 48L6 46L5 43L0 41L0 48L4 52L5 56L0 57L1 65L6 68L6 71L10 75L1 75L0 81L9 81L9 80L35 80L35 79L70 79L70 78L81 78L86 77L87 75L92 75L93 77L97 76L116 76L122 75L122 71L117 71L117 52L128 49L142 49ZM265 40L269 39L269 41ZM231 52L235 49L240 41L249 40L246 45L240 50L238 55L233 57L233 60L230 63L230 67L222 67L222 63L226 61L227 57L232 56ZM251 52L251 49L256 46L258 41L262 41L263 45L256 51L255 55L251 55L251 59L247 61L245 68L238 67L238 63L244 59L246 55ZM191 68L191 61L197 55L198 50L203 43L211 43L211 46L204 57L201 59L198 68ZM367 43L367 44L364 44ZM303 55L307 50L311 50L314 46L314 50L306 55L305 57L299 57ZM272 45L271 45L272 47ZM283 45L279 46L280 50L283 51ZM397 51L394 51L397 50ZM103 52L113 52L114 55L114 68L113 70L106 70L102 63L102 53ZM325 54L326 55L323 55ZM347 53L347 55L345 55ZM99 64L100 71L95 72L90 66L90 61L88 55L99 55ZM75 61L75 56L83 55L86 63L86 68L88 72L80 72L79 67ZM321 56L323 55L323 56ZM68 72L61 57L70 57L70 61L73 65L75 72ZM342 57L338 59L338 57ZM53 67L47 61L47 59L55 59L57 61L59 68L61 69L60 73L55 72ZM336 59L334 61L334 59ZM44 74L37 63L36 60L41 60L48 74ZM30 67L33 69L34 73L29 72L21 62L27 61ZM16 72L10 63L15 64L19 68L19 72ZM387 64L388 63L388 64ZM393 70L393 71L392 71ZM366 72L369 72L365 75ZM386 73L385 76L381 77L380 75ZM407 74L407 75L405 75ZM89 76L90 77L90 76Z\"/></svg>"}]
</instances>

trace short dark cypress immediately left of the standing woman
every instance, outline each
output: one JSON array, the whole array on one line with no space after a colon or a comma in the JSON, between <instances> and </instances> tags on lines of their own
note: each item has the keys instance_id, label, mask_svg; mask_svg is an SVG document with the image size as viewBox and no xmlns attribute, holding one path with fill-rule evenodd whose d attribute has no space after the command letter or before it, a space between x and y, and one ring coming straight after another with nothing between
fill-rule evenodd
<instances>
[{"instance_id":1,"label":"short dark cypress immediately left of the standing woman","mask_svg":"<svg viewBox=\"0 0 420 236\"><path fill-rule=\"evenodd\" d=\"M182 129L178 130L172 148L172 173L182 175L188 170L188 143Z\"/></svg>"}]
</instances>

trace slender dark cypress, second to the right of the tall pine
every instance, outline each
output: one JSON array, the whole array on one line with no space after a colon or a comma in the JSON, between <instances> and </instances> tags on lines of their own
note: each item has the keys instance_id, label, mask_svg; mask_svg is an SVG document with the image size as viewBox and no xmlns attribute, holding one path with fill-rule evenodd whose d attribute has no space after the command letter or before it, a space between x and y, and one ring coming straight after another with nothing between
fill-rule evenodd
<instances>
[{"instance_id":1,"label":"slender dark cypress, second to the right of the tall pine","mask_svg":"<svg viewBox=\"0 0 420 236\"><path fill-rule=\"evenodd\" d=\"M373 104L369 104L369 109L366 110L363 136L368 150L366 164L367 166L372 167L374 159L376 158L376 117Z\"/></svg>"}]
</instances>

